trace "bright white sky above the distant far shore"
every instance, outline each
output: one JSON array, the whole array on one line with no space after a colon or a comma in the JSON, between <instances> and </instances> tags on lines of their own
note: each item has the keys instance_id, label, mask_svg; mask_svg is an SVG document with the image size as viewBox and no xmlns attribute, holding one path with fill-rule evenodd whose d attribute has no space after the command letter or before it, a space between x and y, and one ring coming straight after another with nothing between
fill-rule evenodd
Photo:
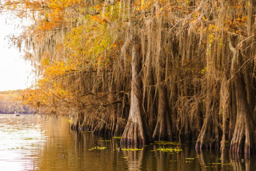
<instances>
[{"instance_id":1,"label":"bright white sky above the distant far shore","mask_svg":"<svg viewBox=\"0 0 256 171\"><path fill-rule=\"evenodd\" d=\"M31 63L21 58L18 49L8 45L6 36L19 31L14 23L0 14L0 91L25 89L33 78Z\"/></svg>"}]
</instances>

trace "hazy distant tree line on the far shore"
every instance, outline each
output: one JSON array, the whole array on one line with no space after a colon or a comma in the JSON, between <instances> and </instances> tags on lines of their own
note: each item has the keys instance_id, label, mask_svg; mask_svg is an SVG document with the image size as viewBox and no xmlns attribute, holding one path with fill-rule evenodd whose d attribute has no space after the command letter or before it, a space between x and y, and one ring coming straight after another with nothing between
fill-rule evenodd
<instances>
[{"instance_id":1,"label":"hazy distant tree line on the far shore","mask_svg":"<svg viewBox=\"0 0 256 171\"><path fill-rule=\"evenodd\" d=\"M10 113L26 113L31 114L34 111L26 104L22 104L19 100L21 90L9 90L0 92L0 113L10 114Z\"/></svg>"}]
</instances>

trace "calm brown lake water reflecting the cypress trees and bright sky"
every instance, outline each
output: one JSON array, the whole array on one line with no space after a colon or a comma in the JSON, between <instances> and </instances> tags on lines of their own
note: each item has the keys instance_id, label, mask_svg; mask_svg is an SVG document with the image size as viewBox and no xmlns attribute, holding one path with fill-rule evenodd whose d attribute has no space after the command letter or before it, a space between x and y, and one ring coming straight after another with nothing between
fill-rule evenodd
<instances>
[{"instance_id":1,"label":"calm brown lake water reflecting the cypress trees and bright sky","mask_svg":"<svg viewBox=\"0 0 256 171\"><path fill-rule=\"evenodd\" d=\"M69 129L67 117L0 115L0 171L255 171L255 156L225 154L221 166L215 151L195 151L195 142L181 152L148 145L140 151L118 151L119 139ZM104 150L89 150L106 147ZM126 147L128 148L128 147ZM64 158L61 156L64 155ZM190 159L189 159L190 158ZM244 159L244 161L242 160ZM243 161L243 162L242 162Z\"/></svg>"}]
</instances>

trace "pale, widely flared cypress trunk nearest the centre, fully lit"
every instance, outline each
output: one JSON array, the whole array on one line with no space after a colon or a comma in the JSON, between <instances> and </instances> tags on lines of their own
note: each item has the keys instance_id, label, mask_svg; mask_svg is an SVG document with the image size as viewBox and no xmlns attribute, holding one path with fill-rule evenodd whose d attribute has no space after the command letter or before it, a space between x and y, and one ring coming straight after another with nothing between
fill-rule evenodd
<instances>
[{"instance_id":1,"label":"pale, widely flared cypress trunk nearest the centre, fully lit","mask_svg":"<svg viewBox=\"0 0 256 171\"><path fill-rule=\"evenodd\" d=\"M137 47L136 47L137 46ZM153 138L148 128L145 117L142 116L142 93L140 80L140 55L139 46L132 45L132 81L131 81L131 107L128 121L122 134L121 144L148 144Z\"/></svg>"}]
</instances>

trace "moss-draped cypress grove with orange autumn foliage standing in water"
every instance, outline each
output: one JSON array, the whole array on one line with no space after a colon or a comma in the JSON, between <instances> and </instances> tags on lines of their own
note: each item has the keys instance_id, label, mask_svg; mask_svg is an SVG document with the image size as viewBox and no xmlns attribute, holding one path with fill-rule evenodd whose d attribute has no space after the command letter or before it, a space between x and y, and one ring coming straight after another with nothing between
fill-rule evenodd
<instances>
[{"instance_id":1,"label":"moss-draped cypress grove with orange autumn foliage standing in water","mask_svg":"<svg viewBox=\"0 0 256 171\"><path fill-rule=\"evenodd\" d=\"M12 38L40 79L38 113L122 144L197 140L256 149L256 1L5 0L32 20Z\"/></svg>"}]
</instances>

